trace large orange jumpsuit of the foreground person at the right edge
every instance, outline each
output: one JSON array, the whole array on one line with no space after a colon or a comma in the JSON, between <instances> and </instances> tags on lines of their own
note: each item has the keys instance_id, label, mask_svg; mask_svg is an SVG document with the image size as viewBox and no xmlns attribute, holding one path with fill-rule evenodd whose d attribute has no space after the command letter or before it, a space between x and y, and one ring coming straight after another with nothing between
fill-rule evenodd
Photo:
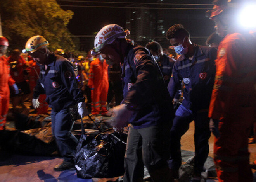
<instances>
[{"instance_id":1,"label":"large orange jumpsuit of the foreground person at the right edge","mask_svg":"<svg viewBox=\"0 0 256 182\"><path fill-rule=\"evenodd\" d=\"M228 34L220 43L209 117L219 120L214 163L220 182L251 182L248 137L256 109L256 40Z\"/></svg>"}]
</instances>

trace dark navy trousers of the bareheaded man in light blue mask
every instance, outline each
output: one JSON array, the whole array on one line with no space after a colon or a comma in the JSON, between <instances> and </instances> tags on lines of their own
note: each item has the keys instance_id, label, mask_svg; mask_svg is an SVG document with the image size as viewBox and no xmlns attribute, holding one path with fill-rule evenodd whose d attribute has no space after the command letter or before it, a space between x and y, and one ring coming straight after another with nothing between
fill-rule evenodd
<instances>
[{"instance_id":1,"label":"dark navy trousers of the bareheaded man in light blue mask","mask_svg":"<svg viewBox=\"0 0 256 182\"><path fill-rule=\"evenodd\" d=\"M211 132L209 130L208 112L189 113L184 111L182 108L177 110L176 116L173 120L173 126L170 130L171 157L168 161L170 169L178 170L181 166L180 139L182 135L187 132L189 129L189 124L193 120L195 123L194 172L201 173L203 171L204 163L209 153L208 141L211 136Z\"/></svg>"}]
</instances>

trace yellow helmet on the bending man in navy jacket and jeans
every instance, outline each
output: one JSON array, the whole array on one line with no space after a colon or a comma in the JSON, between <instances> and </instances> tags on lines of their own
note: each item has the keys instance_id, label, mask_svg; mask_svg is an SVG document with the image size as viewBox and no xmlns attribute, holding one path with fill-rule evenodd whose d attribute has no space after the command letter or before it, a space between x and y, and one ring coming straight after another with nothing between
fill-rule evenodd
<instances>
[{"instance_id":1,"label":"yellow helmet on the bending man in navy jacket and jeans","mask_svg":"<svg viewBox=\"0 0 256 182\"><path fill-rule=\"evenodd\" d=\"M42 46L50 45L49 42L43 36L33 36L28 39L25 49L30 53L33 53L40 49Z\"/></svg>"}]
</instances>

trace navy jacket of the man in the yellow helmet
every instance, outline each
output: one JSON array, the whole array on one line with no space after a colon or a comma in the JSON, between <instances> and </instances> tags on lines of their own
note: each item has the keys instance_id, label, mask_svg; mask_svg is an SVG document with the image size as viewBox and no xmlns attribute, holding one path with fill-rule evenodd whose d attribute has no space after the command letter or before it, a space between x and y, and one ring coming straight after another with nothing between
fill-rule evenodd
<instances>
[{"instance_id":1,"label":"navy jacket of the man in the yellow helmet","mask_svg":"<svg viewBox=\"0 0 256 182\"><path fill-rule=\"evenodd\" d=\"M54 111L85 101L76 84L72 64L66 58L55 54L49 54L48 60L50 64L47 65L47 70L44 65L40 65L40 78L33 98L37 99L39 94L46 94L46 102Z\"/></svg>"}]
</instances>

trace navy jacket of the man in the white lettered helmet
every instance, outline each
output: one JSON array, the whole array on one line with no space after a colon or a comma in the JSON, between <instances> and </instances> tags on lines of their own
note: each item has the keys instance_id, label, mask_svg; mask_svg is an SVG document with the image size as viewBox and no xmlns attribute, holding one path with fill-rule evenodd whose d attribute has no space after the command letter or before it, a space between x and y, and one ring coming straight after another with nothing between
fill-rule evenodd
<instances>
[{"instance_id":1,"label":"navy jacket of the man in the white lettered helmet","mask_svg":"<svg viewBox=\"0 0 256 182\"><path fill-rule=\"evenodd\" d=\"M172 104L163 75L151 53L142 46L128 46L122 64L124 103L134 114L135 129L171 120Z\"/></svg>"}]
</instances>

